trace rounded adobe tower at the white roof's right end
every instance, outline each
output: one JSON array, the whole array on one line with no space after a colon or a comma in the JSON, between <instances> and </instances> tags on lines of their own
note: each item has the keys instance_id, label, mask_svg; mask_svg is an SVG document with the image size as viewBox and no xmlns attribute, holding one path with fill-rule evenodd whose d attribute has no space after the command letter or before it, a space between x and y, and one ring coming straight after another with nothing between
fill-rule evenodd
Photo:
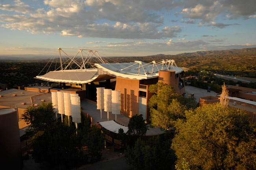
<instances>
[{"instance_id":1,"label":"rounded adobe tower at the white roof's right end","mask_svg":"<svg viewBox=\"0 0 256 170\"><path fill-rule=\"evenodd\" d=\"M177 93L182 95L185 92L185 86L182 89L179 88L179 79L180 79L180 76L178 76L178 78L175 78L175 71L163 70L163 71L158 72L158 81L162 81L163 83L166 83L167 85L173 86L173 89ZM182 82L184 85L183 80L182 80Z\"/></svg>"}]
</instances>

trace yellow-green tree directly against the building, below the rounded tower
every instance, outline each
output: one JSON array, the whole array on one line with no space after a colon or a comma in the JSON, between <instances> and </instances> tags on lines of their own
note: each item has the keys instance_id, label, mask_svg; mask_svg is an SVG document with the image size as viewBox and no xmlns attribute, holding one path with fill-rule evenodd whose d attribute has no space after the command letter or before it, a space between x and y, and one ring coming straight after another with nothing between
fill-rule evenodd
<instances>
[{"instance_id":1,"label":"yellow-green tree directly against the building, below the rounded tower","mask_svg":"<svg viewBox=\"0 0 256 170\"><path fill-rule=\"evenodd\" d=\"M174 92L173 87L158 82L156 85L151 85L149 91L155 93L148 102L152 126L167 130L174 126L177 119L184 118L186 100Z\"/></svg>"}]
</instances>

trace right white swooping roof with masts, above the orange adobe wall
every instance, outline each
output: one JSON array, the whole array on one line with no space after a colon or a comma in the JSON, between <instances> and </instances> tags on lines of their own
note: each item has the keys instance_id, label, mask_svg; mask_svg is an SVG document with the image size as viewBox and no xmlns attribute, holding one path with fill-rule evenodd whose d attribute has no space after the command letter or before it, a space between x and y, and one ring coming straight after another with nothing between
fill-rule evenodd
<instances>
[{"instance_id":1,"label":"right white swooping roof with masts, above the orange adobe wall","mask_svg":"<svg viewBox=\"0 0 256 170\"><path fill-rule=\"evenodd\" d=\"M135 61L134 63L96 63L95 66L117 77L129 79L149 79L158 77L159 70L172 70L176 73L183 71L182 68L167 65L153 65Z\"/></svg>"}]
</instances>

